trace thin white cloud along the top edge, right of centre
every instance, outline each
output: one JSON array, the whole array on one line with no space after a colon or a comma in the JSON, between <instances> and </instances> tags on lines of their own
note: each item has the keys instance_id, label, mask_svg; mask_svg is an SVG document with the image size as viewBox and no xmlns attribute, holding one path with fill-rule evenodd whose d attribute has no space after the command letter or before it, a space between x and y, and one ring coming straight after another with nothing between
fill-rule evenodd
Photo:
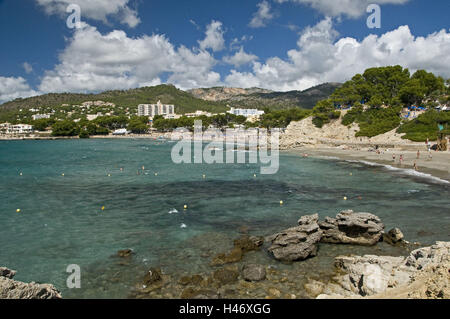
<instances>
[{"instance_id":1,"label":"thin white cloud along the top edge, right of centre","mask_svg":"<svg viewBox=\"0 0 450 319\"><path fill-rule=\"evenodd\" d=\"M404 4L409 0L275 0L278 3L296 2L310 6L326 16L347 16L358 18L366 13L367 6L371 3L383 4Z\"/></svg>"}]
</instances>

